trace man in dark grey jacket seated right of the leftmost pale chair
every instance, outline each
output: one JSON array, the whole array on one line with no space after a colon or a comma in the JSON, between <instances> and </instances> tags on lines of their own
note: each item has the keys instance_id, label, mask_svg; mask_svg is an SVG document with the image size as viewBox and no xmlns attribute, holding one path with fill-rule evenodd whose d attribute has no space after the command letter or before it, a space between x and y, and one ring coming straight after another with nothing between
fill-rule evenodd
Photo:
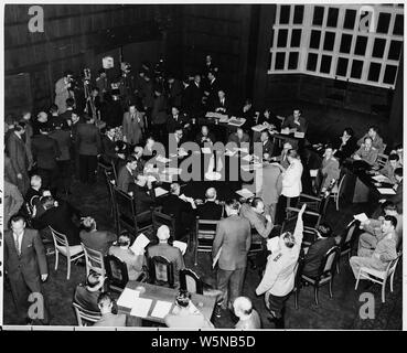
<instances>
[{"instance_id":1,"label":"man in dark grey jacket seated right of the leftmost pale chair","mask_svg":"<svg viewBox=\"0 0 407 353\"><path fill-rule=\"evenodd\" d=\"M83 229L79 233L82 243L90 249L100 252L103 255L107 253L111 243L117 240L116 234L109 231L97 231L96 221L93 217L82 220Z\"/></svg>"}]
</instances>

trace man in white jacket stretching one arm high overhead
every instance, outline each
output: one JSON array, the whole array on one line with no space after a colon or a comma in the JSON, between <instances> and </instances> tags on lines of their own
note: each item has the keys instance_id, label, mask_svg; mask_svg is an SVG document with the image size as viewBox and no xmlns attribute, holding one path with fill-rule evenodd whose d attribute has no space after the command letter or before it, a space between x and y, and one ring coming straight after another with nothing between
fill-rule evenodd
<instances>
[{"instance_id":1,"label":"man in white jacket stretching one arm high overhead","mask_svg":"<svg viewBox=\"0 0 407 353\"><path fill-rule=\"evenodd\" d=\"M265 275L256 289L256 295L265 295L266 307L270 311L276 329L283 329L283 308L294 286L296 265L302 243L302 214L307 204L302 205L298 214L294 233L285 232L278 238L278 244L268 240L267 247L271 252L268 256Z\"/></svg>"}]
</instances>

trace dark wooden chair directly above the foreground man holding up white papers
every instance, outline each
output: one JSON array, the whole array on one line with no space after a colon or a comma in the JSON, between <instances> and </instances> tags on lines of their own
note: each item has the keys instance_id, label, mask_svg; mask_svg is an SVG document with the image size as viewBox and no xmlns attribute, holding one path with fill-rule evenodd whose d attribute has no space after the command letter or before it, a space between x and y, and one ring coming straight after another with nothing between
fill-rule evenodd
<instances>
[{"instance_id":1,"label":"dark wooden chair directly above the foreground man holding up white papers","mask_svg":"<svg viewBox=\"0 0 407 353\"><path fill-rule=\"evenodd\" d=\"M117 211L117 234L120 234L121 227L133 234L149 233L152 227L151 210L137 213L132 196L117 186L114 186L113 191Z\"/></svg>"}]
</instances>

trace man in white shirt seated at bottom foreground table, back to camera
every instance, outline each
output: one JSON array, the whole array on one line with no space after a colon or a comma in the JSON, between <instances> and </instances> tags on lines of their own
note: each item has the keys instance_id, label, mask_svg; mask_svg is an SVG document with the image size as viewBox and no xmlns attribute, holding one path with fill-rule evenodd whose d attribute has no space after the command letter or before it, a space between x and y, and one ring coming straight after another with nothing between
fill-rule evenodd
<instances>
[{"instance_id":1,"label":"man in white shirt seated at bottom foreground table, back to camera","mask_svg":"<svg viewBox=\"0 0 407 353\"><path fill-rule=\"evenodd\" d=\"M176 329L213 329L214 325L201 311L192 307L191 295L181 291L175 298L175 309L164 317L164 322L169 328Z\"/></svg>"}]
</instances>

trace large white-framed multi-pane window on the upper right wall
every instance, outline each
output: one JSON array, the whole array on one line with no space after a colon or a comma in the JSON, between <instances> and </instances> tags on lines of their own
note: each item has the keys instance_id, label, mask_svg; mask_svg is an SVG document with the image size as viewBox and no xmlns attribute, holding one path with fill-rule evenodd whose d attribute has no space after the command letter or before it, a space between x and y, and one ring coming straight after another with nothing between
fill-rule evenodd
<instances>
[{"instance_id":1,"label":"large white-framed multi-pane window on the upper right wall","mask_svg":"<svg viewBox=\"0 0 407 353\"><path fill-rule=\"evenodd\" d=\"M278 4L269 74L306 73L394 87L403 4Z\"/></svg>"}]
</instances>

